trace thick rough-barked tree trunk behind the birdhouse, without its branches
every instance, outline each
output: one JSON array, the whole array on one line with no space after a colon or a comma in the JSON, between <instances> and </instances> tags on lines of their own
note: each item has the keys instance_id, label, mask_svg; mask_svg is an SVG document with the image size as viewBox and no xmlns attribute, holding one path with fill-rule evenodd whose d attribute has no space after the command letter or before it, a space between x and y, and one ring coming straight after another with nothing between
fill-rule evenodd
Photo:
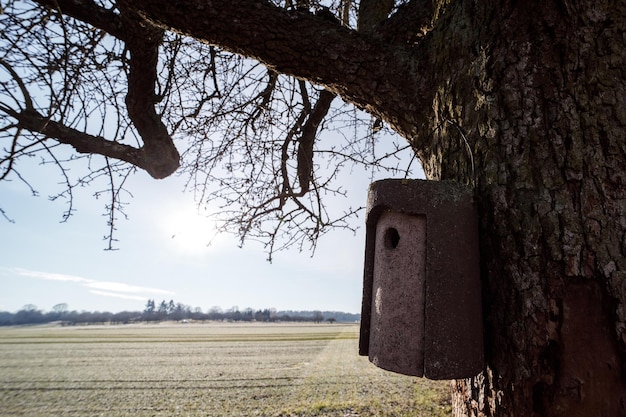
<instances>
[{"instance_id":1,"label":"thick rough-barked tree trunk behind the birdhouse, without its branches","mask_svg":"<svg viewBox=\"0 0 626 417\"><path fill-rule=\"evenodd\" d=\"M432 32L414 142L479 205L488 369L455 415L626 416L625 3L483 3Z\"/></svg>"}]
</instances>

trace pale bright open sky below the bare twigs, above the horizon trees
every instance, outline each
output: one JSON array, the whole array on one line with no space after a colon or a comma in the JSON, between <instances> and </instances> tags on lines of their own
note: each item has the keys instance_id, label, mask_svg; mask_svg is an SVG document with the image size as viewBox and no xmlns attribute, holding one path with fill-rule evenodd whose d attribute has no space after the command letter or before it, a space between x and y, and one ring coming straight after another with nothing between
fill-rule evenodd
<instances>
[{"instance_id":1,"label":"pale bright open sky below the bare twigs, above the horizon trees","mask_svg":"<svg viewBox=\"0 0 626 417\"><path fill-rule=\"evenodd\" d=\"M405 158L408 165L410 153ZM50 311L60 303L76 311L136 311L148 299L205 312L216 306L361 311L364 212L354 219L356 233L331 231L313 257L293 249L269 263L259 243L239 248L234 236L215 237L214 220L198 214L193 195L183 192L184 178L154 180L139 171L127 186L133 198L128 220L117 224L118 250L106 251L105 202L95 190L78 190L77 211L62 223L65 202L49 201L46 192L61 180L58 172L34 163L27 170L37 197L19 182L0 183L0 208L14 220L0 217L0 311L26 305ZM349 193L342 204L352 206L365 206L372 179L389 177L342 175Z\"/></svg>"}]
</instances>

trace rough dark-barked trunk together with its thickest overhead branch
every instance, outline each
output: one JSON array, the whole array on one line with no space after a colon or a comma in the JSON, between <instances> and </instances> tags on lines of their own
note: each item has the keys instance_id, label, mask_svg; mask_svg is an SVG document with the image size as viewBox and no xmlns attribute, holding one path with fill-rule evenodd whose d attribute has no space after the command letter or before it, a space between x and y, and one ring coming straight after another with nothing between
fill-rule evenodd
<instances>
[{"instance_id":1,"label":"rough dark-barked trunk together with its thickest overhead branch","mask_svg":"<svg viewBox=\"0 0 626 417\"><path fill-rule=\"evenodd\" d=\"M474 187L487 368L453 383L456 415L626 416L624 1L414 0L363 33L265 1L119 3L323 85Z\"/></svg>"}]
</instances>

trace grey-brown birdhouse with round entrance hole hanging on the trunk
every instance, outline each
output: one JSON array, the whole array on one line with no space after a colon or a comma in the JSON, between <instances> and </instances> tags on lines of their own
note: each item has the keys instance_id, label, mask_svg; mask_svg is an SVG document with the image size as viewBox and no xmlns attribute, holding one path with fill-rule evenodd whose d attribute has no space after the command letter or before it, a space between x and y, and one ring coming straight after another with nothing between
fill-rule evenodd
<instances>
[{"instance_id":1,"label":"grey-brown birdhouse with round entrance hole hanging on the trunk","mask_svg":"<svg viewBox=\"0 0 626 417\"><path fill-rule=\"evenodd\" d=\"M370 186L359 354L430 379L484 367L477 212L448 181Z\"/></svg>"}]
</instances>

